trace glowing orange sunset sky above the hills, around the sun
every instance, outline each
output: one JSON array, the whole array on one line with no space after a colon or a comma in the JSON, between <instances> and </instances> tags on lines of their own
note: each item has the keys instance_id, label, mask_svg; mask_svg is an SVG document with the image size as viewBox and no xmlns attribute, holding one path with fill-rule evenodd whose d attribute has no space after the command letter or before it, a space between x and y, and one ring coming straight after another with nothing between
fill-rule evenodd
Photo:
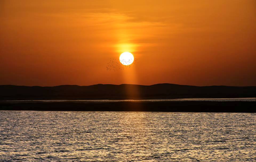
<instances>
[{"instance_id":1,"label":"glowing orange sunset sky above the hills, around the sun","mask_svg":"<svg viewBox=\"0 0 256 162\"><path fill-rule=\"evenodd\" d=\"M255 0L1 0L0 85L256 86L255 22Z\"/></svg>"}]
</instances>

